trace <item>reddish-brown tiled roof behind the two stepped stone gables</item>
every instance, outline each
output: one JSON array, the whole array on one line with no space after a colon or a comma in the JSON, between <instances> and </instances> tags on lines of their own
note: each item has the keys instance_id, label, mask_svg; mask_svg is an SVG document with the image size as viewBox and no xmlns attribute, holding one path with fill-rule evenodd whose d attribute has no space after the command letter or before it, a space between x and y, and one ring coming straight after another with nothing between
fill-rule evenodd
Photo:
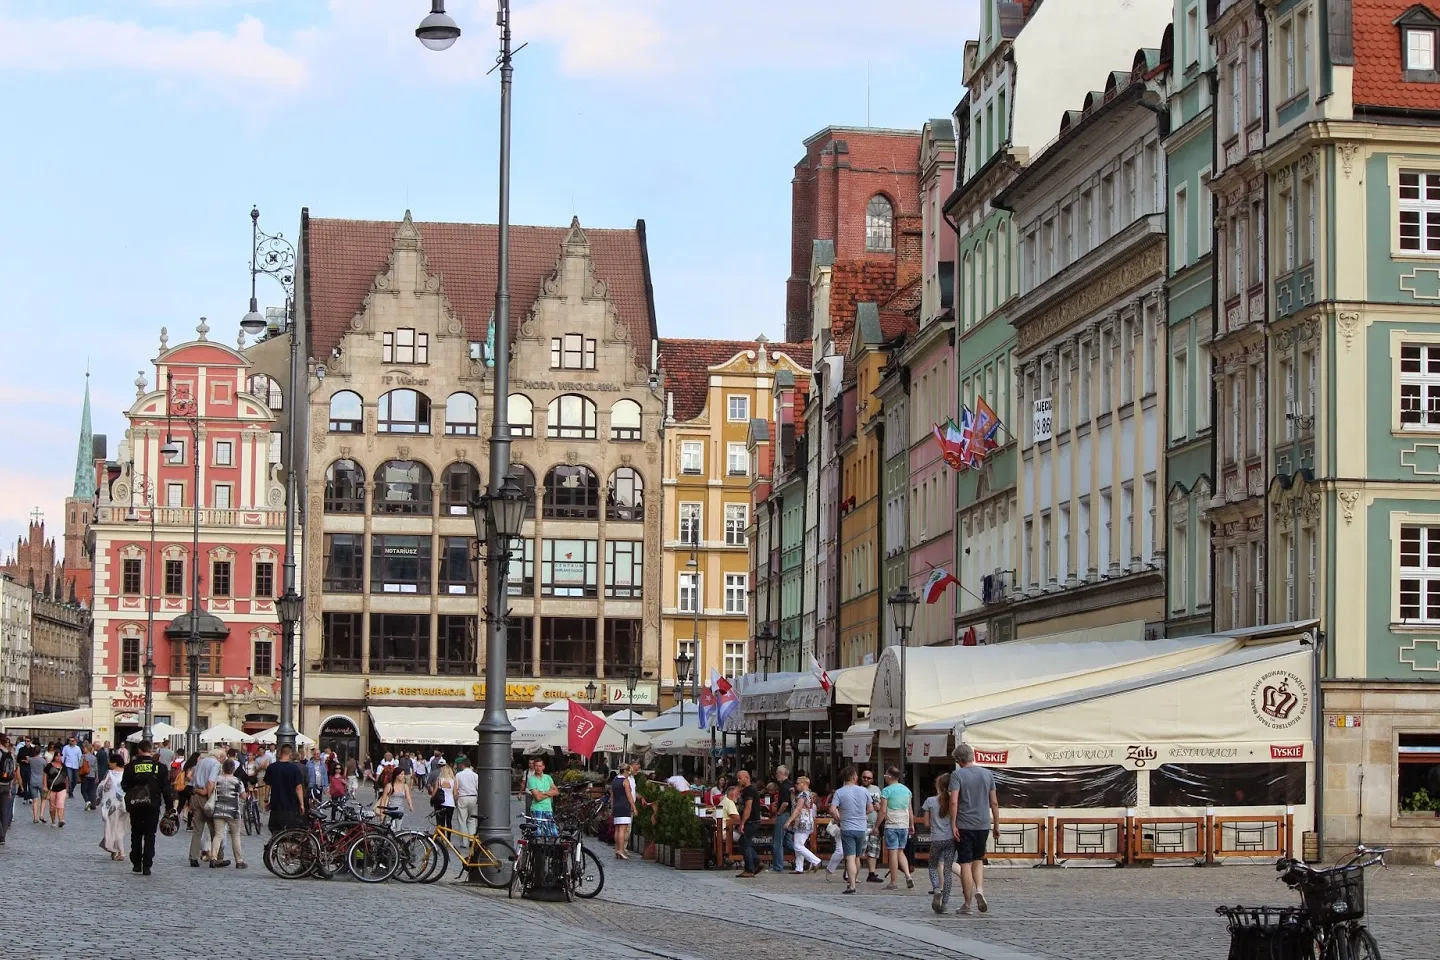
<instances>
[{"instance_id":1,"label":"reddish-brown tiled roof behind the two stepped stone gables","mask_svg":"<svg viewBox=\"0 0 1440 960\"><path fill-rule=\"evenodd\" d=\"M416 222L415 227L426 268L441 278L467 335L484 340L495 307L495 225ZM301 213L311 356L325 357L340 344L376 275L386 271L399 229L399 220L330 220L311 217L308 210ZM570 227L510 227L511 331L518 330L540 294L540 284L554 271L569 232ZM611 302L636 345L635 357L645 363L655 335L645 222L621 230L585 227L585 236L595 275L609 285Z\"/></svg>"}]
</instances>

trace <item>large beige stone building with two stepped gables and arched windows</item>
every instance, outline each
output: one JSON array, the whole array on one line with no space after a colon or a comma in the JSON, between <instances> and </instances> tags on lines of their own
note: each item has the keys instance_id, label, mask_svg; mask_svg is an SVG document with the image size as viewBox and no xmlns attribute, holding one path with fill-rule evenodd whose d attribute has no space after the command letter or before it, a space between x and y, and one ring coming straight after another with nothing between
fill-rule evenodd
<instances>
[{"instance_id":1,"label":"large beige stone building with two stepped gables and arched windows","mask_svg":"<svg viewBox=\"0 0 1440 960\"><path fill-rule=\"evenodd\" d=\"M497 230L302 213L312 358L304 728L377 747L369 707L484 699L471 501L491 361L511 351L514 474L534 495L508 570L507 701L652 707L662 676L664 400L644 223L511 229L510 344L494 343ZM706 456L714 455L706 450ZM423 714L418 714L423 718Z\"/></svg>"}]
</instances>

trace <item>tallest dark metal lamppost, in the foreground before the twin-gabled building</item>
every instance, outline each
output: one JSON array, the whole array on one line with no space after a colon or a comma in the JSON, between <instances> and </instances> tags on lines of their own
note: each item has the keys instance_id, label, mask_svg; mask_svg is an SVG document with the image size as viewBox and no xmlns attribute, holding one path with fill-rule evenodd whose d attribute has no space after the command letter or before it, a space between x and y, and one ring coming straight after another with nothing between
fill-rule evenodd
<instances>
[{"instance_id":1,"label":"tallest dark metal lamppost, in the foreground before the twin-gabled building","mask_svg":"<svg viewBox=\"0 0 1440 960\"><path fill-rule=\"evenodd\" d=\"M510 537L520 533L524 518L526 494L510 476L510 86L514 63L510 49L510 0L498 0L495 24L500 27L500 201L495 227L495 368L492 387L492 423L490 433L490 511L497 501L505 508L511 495L505 486L514 484L521 510ZM415 29L415 36L431 50L445 50L459 37L459 26L445 13L445 0L432 0L431 13ZM505 715L505 567L508 540L501 540L491 522L487 541L488 583L485 602L490 616L490 636L485 643L485 715L475 727L480 737L480 812L482 839L510 839L510 741L514 727ZM477 514L477 530L480 517ZM481 538L484 540L484 538ZM503 560L504 557L504 560Z\"/></svg>"}]
</instances>

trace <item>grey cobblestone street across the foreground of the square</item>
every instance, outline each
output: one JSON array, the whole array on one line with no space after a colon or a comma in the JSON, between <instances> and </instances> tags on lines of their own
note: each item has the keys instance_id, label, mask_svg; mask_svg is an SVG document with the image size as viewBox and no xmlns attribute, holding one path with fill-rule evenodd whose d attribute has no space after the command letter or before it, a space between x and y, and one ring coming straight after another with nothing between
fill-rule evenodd
<instances>
[{"instance_id":1,"label":"grey cobblestone street across the foreground of the square","mask_svg":"<svg viewBox=\"0 0 1440 960\"><path fill-rule=\"evenodd\" d=\"M346 954L361 960L436 956L471 937L485 940L484 956L517 960L533 960L539 953L720 960L737 951L750 960L816 953L828 960L1221 960L1227 938L1224 921L1214 914L1217 904L1293 901L1269 865L992 868L986 877L989 915L936 917L923 874L913 891L886 892L870 884L858 897L842 897L838 877L827 882L822 875L765 872L739 881L729 872L616 862L602 846L598 853L606 882L598 900L521 902L451 878L432 887L285 882L261 866L261 838L246 851L249 871L192 869L184 832L160 838L156 875L140 878L128 864L112 864L96 848L98 815L75 809L66 829L56 830L33 826L24 805L16 813L10 841L0 848L0 889L9 902L29 902L39 913L3 911L0 936L7 943L30 944L27 956L37 960L73 954L78 947L99 957L151 960L173 951L176 930L202 921L216 931L245 931L255 956L312 956L302 937L258 923L276 902L307 928L324 930L327 920L336 924L346 937ZM418 816L410 820L422 823ZM1387 960L1440 959L1434 914L1440 871L1375 871L1367 892L1367 923ZM55 918L68 931L53 951L35 936L36 915ZM392 940L343 933L373 931L372 921L380 918L396 921ZM537 947L537 941L544 946Z\"/></svg>"}]
</instances>

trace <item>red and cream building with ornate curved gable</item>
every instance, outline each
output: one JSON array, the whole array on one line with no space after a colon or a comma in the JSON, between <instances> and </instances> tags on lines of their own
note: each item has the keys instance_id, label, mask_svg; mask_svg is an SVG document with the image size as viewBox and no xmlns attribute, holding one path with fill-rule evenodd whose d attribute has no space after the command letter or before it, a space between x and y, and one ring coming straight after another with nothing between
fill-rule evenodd
<instances>
[{"instance_id":1,"label":"red and cream building with ornate curved gable","mask_svg":"<svg viewBox=\"0 0 1440 960\"><path fill-rule=\"evenodd\" d=\"M189 725L181 638L192 604L223 629L199 651L197 725L279 723L285 489L269 461L275 415L246 390L249 361L209 330L202 320L197 338L176 347L161 330L154 386L137 379L120 459L96 468L89 698L99 740L124 740L144 724L151 645L154 718ZM171 440L176 458L161 450Z\"/></svg>"}]
</instances>

